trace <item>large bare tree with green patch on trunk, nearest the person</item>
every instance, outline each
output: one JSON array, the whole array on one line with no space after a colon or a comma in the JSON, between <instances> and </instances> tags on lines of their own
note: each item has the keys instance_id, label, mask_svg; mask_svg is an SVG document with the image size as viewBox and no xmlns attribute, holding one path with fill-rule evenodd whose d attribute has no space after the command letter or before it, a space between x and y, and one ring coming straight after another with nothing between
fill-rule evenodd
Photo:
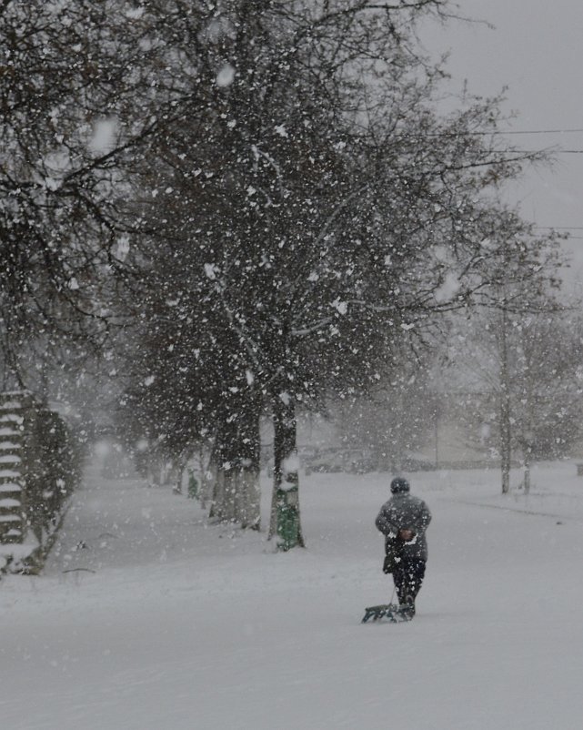
<instances>
[{"instance_id":1,"label":"large bare tree with green patch on trunk, nearest the person","mask_svg":"<svg viewBox=\"0 0 583 730\"><path fill-rule=\"evenodd\" d=\"M490 265L488 235L511 216L484 193L529 156L499 146L497 99L437 117L440 69L414 30L445 8L165 0L141 18L172 100L130 208L149 228L139 275L157 280L146 330L176 320L168 350L192 353L178 392L214 424L218 471L249 458L232 420L257 419L257 400L272 413L271 532L290 507L288 546L302 542L297 409L374 383L402 331L422 346L437 315L536 259L517 245Z\"/></svg>"}]
</instances>

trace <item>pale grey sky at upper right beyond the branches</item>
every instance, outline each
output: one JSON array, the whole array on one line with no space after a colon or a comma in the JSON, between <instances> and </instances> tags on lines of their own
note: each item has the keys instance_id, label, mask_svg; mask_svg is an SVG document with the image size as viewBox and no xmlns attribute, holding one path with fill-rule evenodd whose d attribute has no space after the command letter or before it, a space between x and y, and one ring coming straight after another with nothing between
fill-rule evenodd
<instances>
[{"instance_id":1,"label":"pale grey sky at upper right beyond the branches","mask_svg":"<svg viewBox=\"0 0 583 730\"><path fill-rule=\"evenodd\" d=\"M457 0L459 15L484 24L450 21L424 41L450 51L448 69L458 90L493 96L508 86L513 130L583 130L582 0ZM583 151L583 131L512 136L518 147ZM567 280L583 293L583 154L558 152L553 167L530 170L510 190L524 218L541 227L574 228L566 251ZM579 228L579 229L578 229Z\"/></svg>"}]
</instances>

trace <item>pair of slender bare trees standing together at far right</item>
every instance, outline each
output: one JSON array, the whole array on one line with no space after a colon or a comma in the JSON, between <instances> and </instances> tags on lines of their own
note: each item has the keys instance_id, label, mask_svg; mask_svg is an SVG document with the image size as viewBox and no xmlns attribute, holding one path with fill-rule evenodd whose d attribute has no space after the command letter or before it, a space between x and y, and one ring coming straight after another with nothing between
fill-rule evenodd
<instances>
[{"instance_id":1,"label":"pair of slender bare trees standing together at far right","mask_svg":"<svg viewBox=\"0 0 583 730\"><path fill-rule=\"evenodd\" d=\"M505 493L513 455L528 492L531 461L565 457L582 433L580 315L555 302L538 302L527 312L523 306L507 301L481 312L465 323L463 335L457 328L450 352L462 383L453 388L462 403L457 420L499 458Z\"/></svg>"}]
</instances>

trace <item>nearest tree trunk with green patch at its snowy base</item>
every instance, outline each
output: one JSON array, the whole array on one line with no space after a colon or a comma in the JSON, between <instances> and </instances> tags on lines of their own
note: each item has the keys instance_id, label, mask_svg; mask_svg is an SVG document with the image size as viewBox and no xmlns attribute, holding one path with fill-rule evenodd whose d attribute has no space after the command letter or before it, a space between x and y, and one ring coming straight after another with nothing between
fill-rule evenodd
<instances>
[{"instance_id":1,"label":"nearest tree trunk with green patch at its snowy base","mask_svg":"<svg viewBox=\"0 0 583 730\"><path fill-rule=\"evenodd\" d=\"M297 422L294 400L285 392L273 399L274 486L269 539L277 535L281 550L305 547L299 512Z\"/></svg>"}]
</instances>

